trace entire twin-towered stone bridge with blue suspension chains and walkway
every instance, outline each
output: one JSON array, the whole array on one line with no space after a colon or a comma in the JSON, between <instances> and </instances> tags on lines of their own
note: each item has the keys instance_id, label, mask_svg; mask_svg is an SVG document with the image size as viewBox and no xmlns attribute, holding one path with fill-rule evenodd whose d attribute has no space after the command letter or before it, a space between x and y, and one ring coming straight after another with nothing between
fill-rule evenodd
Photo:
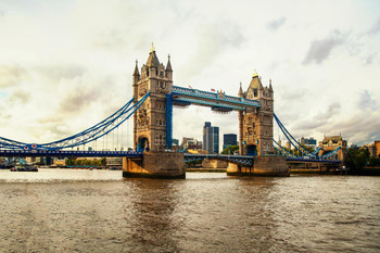
<instances>
[{"instance_id":1,"label":"entire twin-towered stone bridge with blue suspension chains and walkway","mask_svg":"<svg viewBox=\"0 0 380 253\"><path fill-rule=\"evenodd\" d=\"M192 155L170 151L173 144L173 107L207 106L216 112L238 112L239 155ZM74 151L110 135L124 122L134 118L134 151ZM290 154L274 141L274 118L288 140L301 152ZM72 149L72 150L69 150ZM339 150L340 148L337 148ZM208 92L173 85L170 56L166 66L160 63L154 48L132 74L132 99L94 126L49 143L26 143L0 137L0 156L118 156L123 157L124 177L183 178L183 161L218 159L229 162L229 175L289 176L288 161L340 163L332 153L318 156L305 150L274 114L271 81L264 87L257 73L246 91L240 84L238 97L221 91ZM274 154L280 155L274 155Z\"/></svg>"}]
</instances>

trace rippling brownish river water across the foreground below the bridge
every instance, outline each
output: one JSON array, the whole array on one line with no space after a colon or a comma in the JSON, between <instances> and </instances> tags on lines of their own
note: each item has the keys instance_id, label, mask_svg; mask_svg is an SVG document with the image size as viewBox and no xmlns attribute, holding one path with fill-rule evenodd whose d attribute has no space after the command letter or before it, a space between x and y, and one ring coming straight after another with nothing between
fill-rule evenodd
<instances>
[{"instance_id":1,"label":"rippling brownish river water across the foreground below the bridge","mask_svg":"<svg viewBox=\"0 0 380 253\"><path fill-rule=\"evenodd\" d=\"M0 170L0 252L380 252L380 177Z\"/></svg>"}]
</instances>

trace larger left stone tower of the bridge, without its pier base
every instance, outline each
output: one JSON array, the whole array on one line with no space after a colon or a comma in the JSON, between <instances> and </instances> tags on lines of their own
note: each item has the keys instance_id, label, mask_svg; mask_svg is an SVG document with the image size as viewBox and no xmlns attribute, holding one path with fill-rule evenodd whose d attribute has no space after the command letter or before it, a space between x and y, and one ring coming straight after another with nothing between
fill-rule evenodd
<instances>
[{"instance_id":1,"label":"larger left stone tower of the bridge, without its pier base","mask_svg":"<svg viewBox=\"0 0 380 253\"><path fill-rule=\"evenodd\" d=\"M150 97L135 113L134 148L137 151L164 151L167 127L172 127L168 126L170 122L166 123L166 94L172 93L173 89L170 56L165 67L152 45L141 75L136 62L132 87L135 103L150 91Z\"/></svg>"}]
</instances>

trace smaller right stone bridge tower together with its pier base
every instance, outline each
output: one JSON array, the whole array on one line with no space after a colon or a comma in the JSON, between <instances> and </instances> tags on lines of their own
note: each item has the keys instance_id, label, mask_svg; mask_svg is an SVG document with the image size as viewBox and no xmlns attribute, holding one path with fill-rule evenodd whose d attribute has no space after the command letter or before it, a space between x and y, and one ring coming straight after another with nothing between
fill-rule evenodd
<instances>
[{"instance_id":1,"label":"smaller right stone bridge tower together with its pier base","mask_svg":"<svg viewBox=\"0 0 380 253\"><path fill-rule=\"evenodd\" d=\"M239 97L257 100L259 107L239 111L239 153L254 155L253 166L229 164L230 176L289 176L284 156L268 155L274 151L274 89L271 81L264 87L257 73L243 92L240 85Z\"/></svg>"}]
</instances>

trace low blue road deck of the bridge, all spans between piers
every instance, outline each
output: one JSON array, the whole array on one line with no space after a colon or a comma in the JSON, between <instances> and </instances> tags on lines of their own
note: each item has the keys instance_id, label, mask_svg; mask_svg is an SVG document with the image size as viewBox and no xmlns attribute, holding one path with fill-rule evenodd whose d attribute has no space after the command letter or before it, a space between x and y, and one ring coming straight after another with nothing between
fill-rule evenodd
<instances>
[{"instance_id":1,"label":"low blue road deck of the bridge, all spans between piers","mask_svg":"<svg viewBox=\"0 0 380 253\"><path fill-rule=\"evenodd\" d=\"M64 151L64 150L0 150L0 157L142 157L143 152L139 151ZM197 160L221 160L243 166L252 166L254 156L251 155L226 155L226 154L183 154L185 162ZM339 160L322 160L322 159L294 159L287 157L288 162L322 162L339 164Z\"/></svg>"}]
</instances>

